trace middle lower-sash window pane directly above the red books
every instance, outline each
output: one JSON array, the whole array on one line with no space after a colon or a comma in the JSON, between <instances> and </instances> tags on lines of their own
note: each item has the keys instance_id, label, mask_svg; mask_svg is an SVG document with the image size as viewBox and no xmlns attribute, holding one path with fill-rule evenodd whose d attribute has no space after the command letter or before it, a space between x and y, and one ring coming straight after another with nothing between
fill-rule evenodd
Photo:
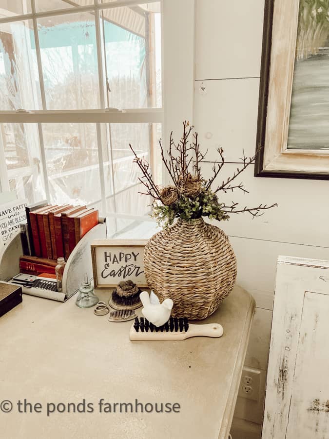
<instances>
[{"instance_id":1,"label":"middle lower-sash window pane directly above the red books","mask_svg":"<svg viewBox=\"0 0 329 439\"><path fill-rule=\"evenodd\" d=\"M43 123L51 202L101 200L97 134L93 123Z\"/></svg>"}]
</instances>

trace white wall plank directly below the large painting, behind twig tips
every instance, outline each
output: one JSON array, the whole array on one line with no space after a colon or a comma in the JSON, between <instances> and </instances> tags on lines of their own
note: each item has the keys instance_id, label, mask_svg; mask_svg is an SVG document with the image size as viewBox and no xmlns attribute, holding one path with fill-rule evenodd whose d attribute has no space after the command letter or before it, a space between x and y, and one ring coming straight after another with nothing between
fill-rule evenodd
<instances>
[{"instance_id":1,"label":"white wall plank directly below the large painting, behind twig tips","mask_svg":"<svg viewBox=\"0 0 329 439\"><path fill-rule=\"evenodd\" d=\"M218 176L218 184L235 169L236 165L226 164L221 177ZM211 164L204 163L203 176L207 178L210 175ZM278 203L278 207L254 219L249 214L232 214L229 221L221 224L228 235L329 247L328 180L254 177L251 165L236 181L242 181L250 193L244 194L240 190L220 193L220 200L226 203L234 200L241 203L242 208L274 202Z\"/></svg>"}]
</instances>

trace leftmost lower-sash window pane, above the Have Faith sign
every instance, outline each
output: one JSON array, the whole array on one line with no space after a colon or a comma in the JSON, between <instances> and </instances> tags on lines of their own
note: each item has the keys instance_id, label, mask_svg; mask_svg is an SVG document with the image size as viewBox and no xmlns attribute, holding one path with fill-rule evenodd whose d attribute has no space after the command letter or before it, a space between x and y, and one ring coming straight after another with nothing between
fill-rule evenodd
<instances>
[{"instance_id":1,"label":"leftmost lower-sash window pane, above the Have Faith sign","mask_svg":"<svg viewBox=\"0 0 329 439\"><path fill-rule=\"evenodd\" d=\"M44 200L38 125L0 123L0 149L4 153L10 190L31 203Z\"/></svg>"}]
</instances>

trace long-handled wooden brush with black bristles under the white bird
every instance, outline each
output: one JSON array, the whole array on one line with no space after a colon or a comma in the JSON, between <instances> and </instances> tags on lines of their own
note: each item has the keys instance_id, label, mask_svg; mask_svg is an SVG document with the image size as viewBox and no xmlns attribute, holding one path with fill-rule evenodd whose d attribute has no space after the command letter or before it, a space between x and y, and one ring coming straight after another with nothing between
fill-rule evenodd
<instances>
[{"instance_id":1,"label":"long-handled wooden brush with black bristles under the white bird","mask_svg":"<svg viewBox=\"0 0 329 439\"><path fill-rule=\"evenodd\" d=\"M185 340L190 337L221 337L223 332L219 323L193 325L186 317L171 317L158 327L143 317L136 317L129 337L131 340Z\"/></svg>"}]
</instances>

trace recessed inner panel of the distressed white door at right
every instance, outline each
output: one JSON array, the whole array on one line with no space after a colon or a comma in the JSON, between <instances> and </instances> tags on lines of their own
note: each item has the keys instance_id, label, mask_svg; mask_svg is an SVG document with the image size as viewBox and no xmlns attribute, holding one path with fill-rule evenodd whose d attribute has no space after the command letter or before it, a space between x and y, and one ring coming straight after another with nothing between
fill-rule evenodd
<instances>
[{"instance_id":1,"label":"recessed inner panel of the distressed white door at right","mask_svg":"<svg viewBox=\"0 0 329 439\"><path fill-rule=\"evenodd\" d=\"M329 290L306 292L300 324L287 439L329 436Z\"/></svg>"}]
</instances>

